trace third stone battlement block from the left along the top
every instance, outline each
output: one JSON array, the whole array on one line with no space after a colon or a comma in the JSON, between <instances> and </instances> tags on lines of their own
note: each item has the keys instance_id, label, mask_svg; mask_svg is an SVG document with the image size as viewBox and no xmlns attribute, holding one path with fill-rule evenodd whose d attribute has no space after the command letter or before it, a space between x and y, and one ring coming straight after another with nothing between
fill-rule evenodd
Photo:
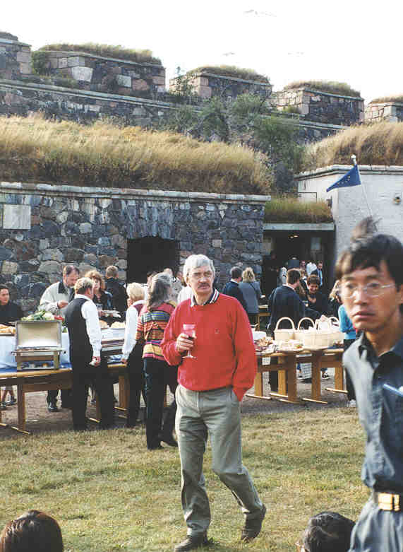
<instances>
[{"instance_id":1,"label":"third stone battlement block from the left along the top","mask_svg":"<svg viewBox=\"0 0 403 552\"><path fill-rule=\"evenodd\" d=\"M174 92L178 86L178 79L181 78L170 79L169 90ZM246 81L243 78L209 73L191 75L189 86L191 86L194 93L205 100L210 100L210 98L236 98L236 96L245 93L258 94L262 95L263 98L269 98L273 88L270 83Z\"/></svg>"}]
</instances>

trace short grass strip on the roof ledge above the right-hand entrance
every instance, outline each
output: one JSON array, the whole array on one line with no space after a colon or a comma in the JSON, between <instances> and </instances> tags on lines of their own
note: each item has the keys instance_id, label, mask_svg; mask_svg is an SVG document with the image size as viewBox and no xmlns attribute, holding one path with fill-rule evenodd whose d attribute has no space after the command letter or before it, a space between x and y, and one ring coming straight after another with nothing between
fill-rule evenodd
<instances>
[{"instance_id":1,"label":"short grass strip on the roof ledge above the right-hand entrance","mask_svg":"<svg viewBox=\"0 0 403 552\"><path fill-rule=\"evenodd\" d=\"M332 212L325 201L298 201L296 198L272 197L265 206L265 223L328 223Z\"/></svg>"}]
</instances>

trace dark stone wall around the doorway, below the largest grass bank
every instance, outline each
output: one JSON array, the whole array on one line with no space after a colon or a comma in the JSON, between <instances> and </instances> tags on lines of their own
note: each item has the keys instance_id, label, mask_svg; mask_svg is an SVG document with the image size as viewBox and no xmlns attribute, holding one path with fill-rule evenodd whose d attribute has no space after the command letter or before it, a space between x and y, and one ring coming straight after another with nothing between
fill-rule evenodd
<instances>
[{"instance_id":1,"label":"dark stone wall around the doorway, below the largest grass bank","mask_svg":"<svg viewBox=\"0 0 403 552\"><path fill-rule=\"evenodd\" d=\"M67 263L126 281L128 240L147 236L176 240L181 264L207 254L222 283L236 263L260 276L267 199L1 182L0 282L29 312Z\"/></svg>"}]
</instances>

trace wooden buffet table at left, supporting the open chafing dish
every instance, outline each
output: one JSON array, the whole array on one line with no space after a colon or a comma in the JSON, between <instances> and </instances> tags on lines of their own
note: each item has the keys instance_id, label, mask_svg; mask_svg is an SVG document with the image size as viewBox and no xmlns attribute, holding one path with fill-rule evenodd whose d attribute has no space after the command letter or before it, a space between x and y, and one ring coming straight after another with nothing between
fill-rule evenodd
<instances>
[{"instance_id":1,"label":"wooden buffet table at left, supporting the open chafing dish","mask_svg":"<svg viewBox=\"0 0 403 552\"><path fill-rule=\"evenodd\" d=\"M119 409L126 411L128 405L128 378L126 375L126 366L121 363L111 363L108 365L111 375L119 376ZM15 370L13 372L0 372L0 386L16 385L17 387L17 407L18 407L18 425L11 428L30 435L25 429L25 393L37 391L49 391L52 389L71 389L72 374L71 368L60 368L59 370ZM92 421L100 420L100 406L97 401L97 418L90 418ZM6 427L7 424L1 423L0 426Z\"/></svg>"}]
</instances>

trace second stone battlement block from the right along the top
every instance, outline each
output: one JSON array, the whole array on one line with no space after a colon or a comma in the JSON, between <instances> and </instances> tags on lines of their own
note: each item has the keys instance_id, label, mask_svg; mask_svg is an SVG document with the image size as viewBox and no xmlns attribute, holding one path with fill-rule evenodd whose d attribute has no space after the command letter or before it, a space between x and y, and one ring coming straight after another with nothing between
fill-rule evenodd
<instances>
[{"instance_id":1,"label":"second stone battlement block from the right along the top","mask_svg":"<svg viewBox=\"0 0 403 552\"><path fill-rule=\"evenodd\" d=\"M273 102L279 111L294 108L304 119L312 122L349 126L363 122L364 103L362 98L352 98L296 88L275 93Z\"/></svg>"}]
</instances>

